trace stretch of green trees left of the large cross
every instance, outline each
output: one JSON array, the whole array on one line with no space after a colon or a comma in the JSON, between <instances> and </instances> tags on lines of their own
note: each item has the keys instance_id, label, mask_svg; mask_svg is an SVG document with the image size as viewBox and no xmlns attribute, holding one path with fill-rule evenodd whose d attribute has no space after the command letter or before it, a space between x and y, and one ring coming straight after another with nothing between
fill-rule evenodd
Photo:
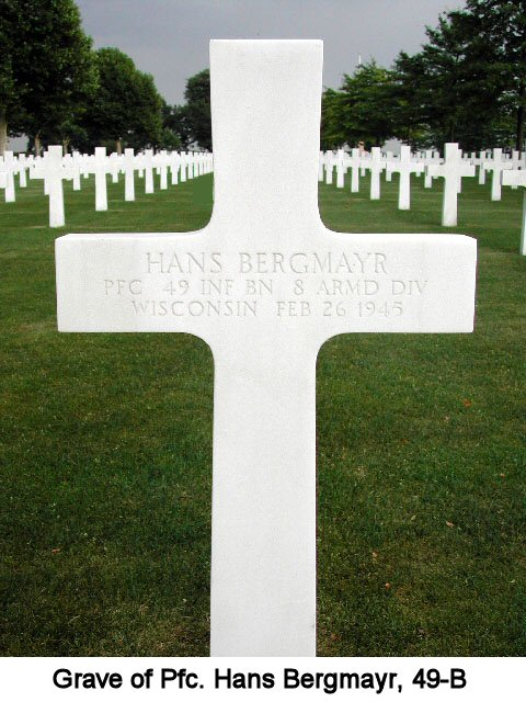
<instances>
[{"instance_id":1,"label":"stretch of green trees left of the large cross","mask_svg":"<svg viewBox=\"0 0 526 702\"><path fill-rule=\"evenodd\" d=\"M187 104L170 106L129 56L93 49L75 0L0 0L0 154L23 134L36 152L211 146L201 115L209 124L208 71L187 81Z\"/></svg>"}]
</instances>

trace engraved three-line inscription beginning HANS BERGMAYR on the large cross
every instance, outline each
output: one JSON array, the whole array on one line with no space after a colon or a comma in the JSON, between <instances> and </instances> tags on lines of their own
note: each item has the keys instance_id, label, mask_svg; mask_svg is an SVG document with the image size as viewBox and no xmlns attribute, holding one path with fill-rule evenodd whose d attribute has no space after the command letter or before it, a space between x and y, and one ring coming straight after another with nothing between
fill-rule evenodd
<instances>
[{"instance_id":1,"label":"engraved three-line inscription beginning HANS BERGMAYR on the large cross","mask_svg":"<svg viewBox=\"0 0 526 702\"><path fill-rule=\"evenodd\" d=\"M399 275L399 272L398 272ZM104 297L138 317L401 317L430 281L391 274L381 251L152 250L133 278L105 278Z\"/></svg>"}]
</instances>

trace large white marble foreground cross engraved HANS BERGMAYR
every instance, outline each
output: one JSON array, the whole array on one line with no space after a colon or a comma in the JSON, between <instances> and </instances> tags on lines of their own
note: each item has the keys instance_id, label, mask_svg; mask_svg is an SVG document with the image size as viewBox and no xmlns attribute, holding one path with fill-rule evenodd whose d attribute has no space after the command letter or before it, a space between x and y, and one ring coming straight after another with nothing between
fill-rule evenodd
<instances>
[{"instance_id":1,"label":"large white marble foreground cross engraved HANS BERGMAYR","mask_svg":"<svg viewBox=\"0 0 526 702\"><path fill-rule=\"evenodd\" d=\"M347 332L471 331L477 244L322 224L322 42L214 41L210 76L210 223L57 239L58 328L209 344L211 654L312 656L318 351Z\"/></svg>"}]
</instances>

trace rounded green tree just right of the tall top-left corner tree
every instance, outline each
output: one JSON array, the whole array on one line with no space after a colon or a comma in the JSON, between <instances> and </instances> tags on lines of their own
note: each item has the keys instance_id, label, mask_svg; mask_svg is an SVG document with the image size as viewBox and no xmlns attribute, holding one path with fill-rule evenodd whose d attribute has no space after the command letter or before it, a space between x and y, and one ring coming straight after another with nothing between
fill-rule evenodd
<instances>
[{"instance_id":1,"label":"rounded green tree just right of the tall top-left corner tree","mask_svg":"<svg viewBox=\"0 0 526 702\"><path fill-rule=\"evenodd\" d=\"M149 73L117 48L95 52L99 87L84 116L91 146L110 143L117 152L156 145L162 132L162 99Z\"/></svg>"}]
</instances>

